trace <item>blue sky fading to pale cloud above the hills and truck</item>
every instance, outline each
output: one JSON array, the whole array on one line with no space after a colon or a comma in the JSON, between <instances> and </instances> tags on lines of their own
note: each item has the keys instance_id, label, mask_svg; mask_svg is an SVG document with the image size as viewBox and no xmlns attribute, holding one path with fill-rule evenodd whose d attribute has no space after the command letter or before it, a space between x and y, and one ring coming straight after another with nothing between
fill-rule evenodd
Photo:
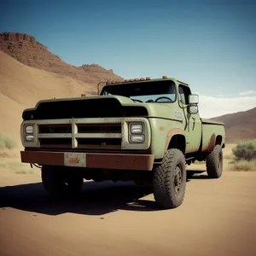
<instances>
[{"instance_id":1,"label":"blue sky fading to pale cloud above the hills and truck","mask_svg":"<svg viewBox=\"0 0 256 256\"><path fill-rule=\"evenodd\" d=\"M124 79L183 80L210 118L256 107L256 1L0 0L0 32Z\"/></svg>"}]
</instances>

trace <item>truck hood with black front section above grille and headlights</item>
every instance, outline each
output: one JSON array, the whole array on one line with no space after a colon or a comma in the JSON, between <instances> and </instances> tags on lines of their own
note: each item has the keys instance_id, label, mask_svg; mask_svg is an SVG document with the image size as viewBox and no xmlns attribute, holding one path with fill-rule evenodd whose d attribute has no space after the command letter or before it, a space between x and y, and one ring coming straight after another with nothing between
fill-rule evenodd
<instances>
[{"instance_id":1,"label":"truck hood with black front section above grille and headlights","mask_svg":"<svg viewBox=\"0 0 256 256\"><path fill-rule=\"evenodd\" d=\"M43 100L22 113L28 119L159 117L180 119L172 103L133 102L125 96L88 96Z\"/></svg>"}]
</instances>

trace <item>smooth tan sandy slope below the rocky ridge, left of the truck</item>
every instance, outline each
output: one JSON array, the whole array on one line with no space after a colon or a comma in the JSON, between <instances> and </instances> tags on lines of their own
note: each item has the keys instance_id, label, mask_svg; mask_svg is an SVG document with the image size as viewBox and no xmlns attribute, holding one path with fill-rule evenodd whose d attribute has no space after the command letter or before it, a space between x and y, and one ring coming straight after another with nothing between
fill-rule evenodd
<instances>
[{"instance_id":1,"label":"smooth tan sandy slope below the rocky ridge, left of the truck","mask_svg":"<svg viewBox=\"0 0 256 256\"><path fill-rule=\"evenodd\" d=\"M21 113L41 99L80 96L95 85L49 73L15 61L0 51L0 132L20 140Z\"/></svg>"}]
</instances>

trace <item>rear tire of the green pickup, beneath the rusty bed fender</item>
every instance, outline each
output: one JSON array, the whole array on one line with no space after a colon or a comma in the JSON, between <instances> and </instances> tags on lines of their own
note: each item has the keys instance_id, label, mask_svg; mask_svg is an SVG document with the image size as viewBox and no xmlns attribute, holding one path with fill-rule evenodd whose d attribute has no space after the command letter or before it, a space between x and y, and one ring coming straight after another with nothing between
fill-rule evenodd
<instances>
[{"instance_id":1,"label":"rear tire of the green pickup, beneath the rusty bed fender","mask_svg":"<svg viewBox=\"0 0 256 256\"><path fill-rule=\"evenodd\" d=\"M210 178L218 178L223 172L223 152L220 145L216 145L207 155L207 174Z\"/></svg>"}]
</instances>

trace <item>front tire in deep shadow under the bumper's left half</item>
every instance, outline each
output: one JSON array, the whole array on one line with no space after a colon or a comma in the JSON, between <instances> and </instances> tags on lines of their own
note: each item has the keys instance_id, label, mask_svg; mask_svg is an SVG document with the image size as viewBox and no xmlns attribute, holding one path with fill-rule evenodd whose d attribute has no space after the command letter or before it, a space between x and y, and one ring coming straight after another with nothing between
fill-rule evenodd
<instances>
[{"instance_id":1,"label":"front tire in deep shadow under the bumper's left half","mask_svg":"<svg viewBox=\"0 0 256 256\"><path fill-rule=\"evenodd\" d=\"M49 195L58 198L78 195L84 178L72 171L63 166L43 166L41 177L44 189Z\"/></svg>"}]
</instances>

